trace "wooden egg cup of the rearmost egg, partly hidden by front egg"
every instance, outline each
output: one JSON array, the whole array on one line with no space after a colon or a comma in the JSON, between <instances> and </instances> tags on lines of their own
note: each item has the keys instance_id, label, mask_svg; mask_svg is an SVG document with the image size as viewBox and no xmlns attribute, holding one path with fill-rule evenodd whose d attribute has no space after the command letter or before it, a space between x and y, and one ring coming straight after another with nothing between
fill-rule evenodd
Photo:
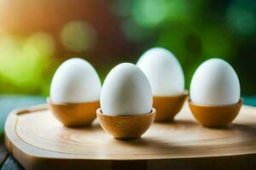
<instances>
[{"instance_id":1,"label":"wooden egg cup of the rearmost egg, partly hidden by front egg","mask_svg":"<svg viewBox=\"0 0 256 170\"><path fill-rule=\"evenodd\" d=\"M171 122L174 116L183 108L188 91L175 96L154 96L153 107L157 111L154 122Z\"/></svg>"}]
</instances>

